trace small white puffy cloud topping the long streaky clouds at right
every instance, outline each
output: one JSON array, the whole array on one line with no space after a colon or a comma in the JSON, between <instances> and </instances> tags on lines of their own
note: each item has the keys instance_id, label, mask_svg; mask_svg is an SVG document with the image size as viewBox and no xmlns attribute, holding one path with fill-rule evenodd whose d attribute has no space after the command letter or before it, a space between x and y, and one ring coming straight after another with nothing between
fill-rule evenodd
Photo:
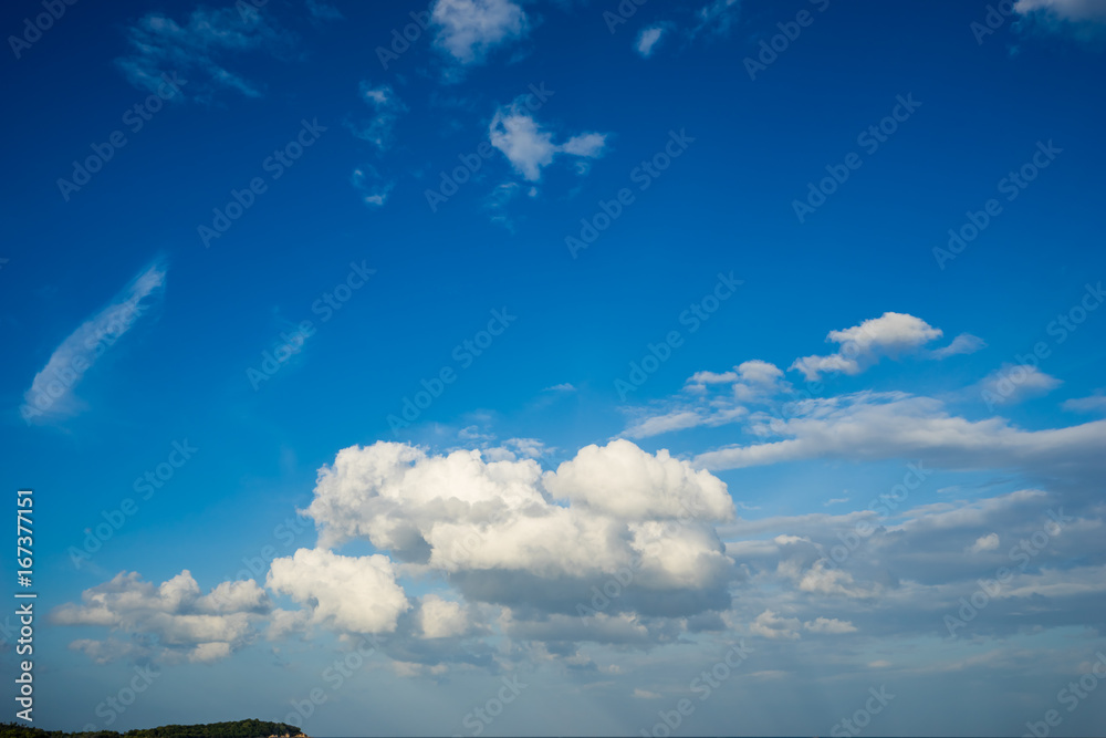
<instances>
[{"instance_id":1,"label":"small white puffy cloud topping the long streaky clouds at right","mask_svg":"<svg viewBox=\"0 0 1106 738\"><path fill-rule=\"evenodd\" d=\"M887 312L859 325L831 331L826 341L841 344L841 351L827 356L796 358L791 368L802 372L808 381L821 378L823 372L855 375L883 356L897 357L917 351L940 336L940 329L932 328L920 318Z\"/></svg>"}]
</instances>

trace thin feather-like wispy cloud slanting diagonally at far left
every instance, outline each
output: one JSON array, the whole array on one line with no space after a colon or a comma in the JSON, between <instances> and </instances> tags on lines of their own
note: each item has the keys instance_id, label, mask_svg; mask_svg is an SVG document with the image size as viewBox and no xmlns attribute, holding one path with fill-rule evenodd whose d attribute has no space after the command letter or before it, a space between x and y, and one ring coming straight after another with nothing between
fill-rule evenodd
<instances>
[{"instance_id":1,"label":"thin feather-like wispy cloud slanting diagonally at far left","mask_svg":"<svg viewBox=\"0 0 1106 738\"><path fill-rule=\"evenodd\" d=\"M75 415L82 405L73 389L100 356L113 346L149 308L144 301L165 285L165 267L154 263L135 277L106 308L87 319L54 349L34 375L20 408L23 419L45 422Z\"/></svg>"}]
</instances>

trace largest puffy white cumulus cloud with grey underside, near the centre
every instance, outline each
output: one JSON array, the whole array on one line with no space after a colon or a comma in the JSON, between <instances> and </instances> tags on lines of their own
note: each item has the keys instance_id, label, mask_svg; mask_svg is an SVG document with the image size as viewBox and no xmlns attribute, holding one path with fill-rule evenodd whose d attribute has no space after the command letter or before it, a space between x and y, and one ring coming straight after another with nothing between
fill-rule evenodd
<instances>
[{"instance_id":1,"label":"largest puffy white cumulus cloud with grey underside, near the centre","mask_svg":"<svg viewBox=\"0 0 1106 738\"><path fill-rule=\"evenodd\" d=\"M687 614L729 600L732 561L712 524L733 516L724 484L626 440L544 474L531 458L480 451L347 448L321 470L306 514L321 545L365 539L448 573L469 601L576 615L617 572L633 572L634 586L612 613Z\"/></svg>"}]
</instances>

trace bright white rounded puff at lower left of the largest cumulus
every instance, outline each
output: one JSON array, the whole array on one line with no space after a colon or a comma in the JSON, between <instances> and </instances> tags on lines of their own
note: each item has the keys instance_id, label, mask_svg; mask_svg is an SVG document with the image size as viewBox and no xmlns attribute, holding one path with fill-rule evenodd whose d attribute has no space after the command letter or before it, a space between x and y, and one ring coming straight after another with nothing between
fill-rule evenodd
<instances>
[{"instance_id":1,"label":"bright white rounded puff at lower left of the largest cumulus","mask_svg":"<svg viewBox=\"0 0 1106 738\"><path fill-rule=\"evenodd\" d=\"M347 633L390 633L410 609L392 561L379 554L300 549L272 562L265 586L309 605L313 623Z\"/></svg>"}]
</instances>

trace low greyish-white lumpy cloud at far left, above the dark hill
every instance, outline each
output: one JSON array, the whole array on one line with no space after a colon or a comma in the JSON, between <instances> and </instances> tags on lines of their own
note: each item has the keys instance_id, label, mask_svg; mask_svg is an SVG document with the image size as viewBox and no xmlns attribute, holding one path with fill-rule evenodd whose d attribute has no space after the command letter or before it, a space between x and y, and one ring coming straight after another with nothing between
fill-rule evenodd
<instances>
[{"instance_id":1,"label":"low greyish-white lumpy cloud at far left, above the dark hill","mask_svg":"<svg viewBox=\"0 0 1106 738\"><path fill-rule=\"evenodd\" d=\"M186 569L155 585L137 572L121 572L85 590L81 604L64 604L51 613L59 625L96 625L131 634L126 647L82 640L73 647L100 662L153 658L166 662L212 662L225 658L255 634L253 624L272 609L253 580L223 582L208 594ZM113 638L109 638L113 641Z\"/></svg>"}]
</instances>

